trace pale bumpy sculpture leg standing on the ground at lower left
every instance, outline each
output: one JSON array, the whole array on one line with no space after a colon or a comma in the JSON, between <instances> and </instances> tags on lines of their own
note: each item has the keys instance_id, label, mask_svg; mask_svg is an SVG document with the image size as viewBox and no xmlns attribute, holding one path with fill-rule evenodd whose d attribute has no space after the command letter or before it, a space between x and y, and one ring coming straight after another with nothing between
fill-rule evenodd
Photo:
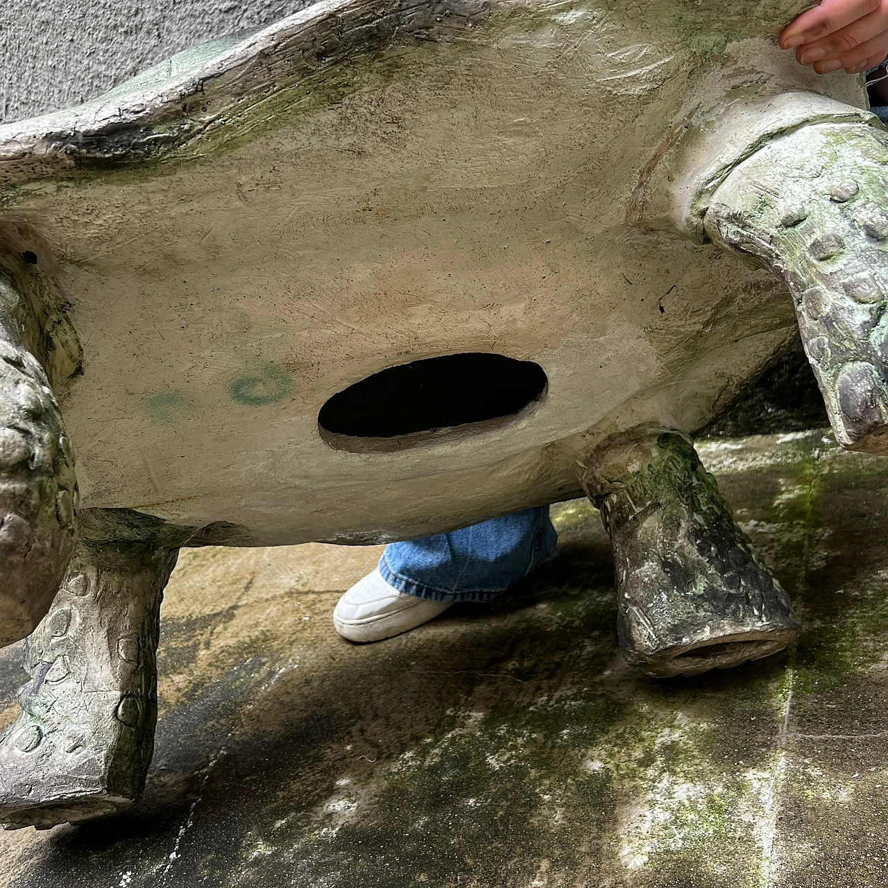
<instances>
[{"instance_id":1,"label":"pale bumpy sculpture leg standing on the ground at lower left","mask_svg":"<svg viewBox=\"0 0 888 888\"><path fill-rule=\"evenodd\" d=\"M177 551L81 545L28 638L19 720L0 736L0 822L48 828L139 797L154 751L155 652Z\"/></svg>"}]
</instances>

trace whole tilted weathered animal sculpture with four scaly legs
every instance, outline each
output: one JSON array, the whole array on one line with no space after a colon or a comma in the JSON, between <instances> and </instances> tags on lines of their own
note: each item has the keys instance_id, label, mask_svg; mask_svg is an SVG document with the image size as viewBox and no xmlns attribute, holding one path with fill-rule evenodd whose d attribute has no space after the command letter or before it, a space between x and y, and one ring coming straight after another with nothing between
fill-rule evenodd
<instances>
[{"instance_id":1,"label":"whole tilted weathered animal sculpture with four scaly legs","mask_svg":"<svg viewBox=\"0 0 888 888\"><path fill-rule=\"evenodd\" d=\"M630 662L789 643L687 435L797 325L838 440L888 452L888 134L777 50L795 12L324 0L0 128L0 819L139 796L181 546L584 490Z\"/></svg>"}]
</instances>

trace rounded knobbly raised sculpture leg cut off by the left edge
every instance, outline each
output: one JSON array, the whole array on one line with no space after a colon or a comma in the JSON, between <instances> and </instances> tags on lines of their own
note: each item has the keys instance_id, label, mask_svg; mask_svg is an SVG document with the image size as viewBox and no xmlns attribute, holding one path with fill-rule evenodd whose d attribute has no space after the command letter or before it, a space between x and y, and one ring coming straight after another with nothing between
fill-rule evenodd
<instances>
[{"instance_id":1,"label":"rounded knobbly raised sculpture leg cut off by the left edge","mask_svg":"<svg viewBox=\"0 0 888 888\"><path fill-rule=\"evenodd\" d=\"M74 457L44 369L0 278L0 647L46 614L75 544Z\"/></svg>"}]
</instances>

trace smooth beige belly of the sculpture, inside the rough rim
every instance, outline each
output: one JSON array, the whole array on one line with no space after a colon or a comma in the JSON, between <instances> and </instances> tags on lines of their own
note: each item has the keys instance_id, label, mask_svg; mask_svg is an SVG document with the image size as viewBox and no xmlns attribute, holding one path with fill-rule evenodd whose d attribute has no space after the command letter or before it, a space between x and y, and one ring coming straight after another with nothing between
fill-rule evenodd
<instances>
[{"instance_id":1,"label":"smooth beige belly of the sculpture, inside the rough rim","mask_svg":"<svg viewBox=\"0 0 888 888\"><path fill-rule=\"evenodd\" d=\"M211 163L35 197L83 342L63 403L83 507L265 543L421 535L574 493L601 434L702 424L791 306L764 273L627 231L645 129L677 97L609 68L591 90L588 65L615 64L593 51L442 54ZM321 438L336 392L464 352L535 361L548 392L415 447Z\"/></svg>"}]
</instances>

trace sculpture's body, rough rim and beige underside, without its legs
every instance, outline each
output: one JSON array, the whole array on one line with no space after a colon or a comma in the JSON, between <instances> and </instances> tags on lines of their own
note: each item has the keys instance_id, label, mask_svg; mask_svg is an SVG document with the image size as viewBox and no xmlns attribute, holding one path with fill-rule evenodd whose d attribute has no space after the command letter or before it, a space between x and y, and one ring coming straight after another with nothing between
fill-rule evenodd
<instances>
[{"instance_id":1,"label":"sculpture's body, rough rim and beige underside, without its legs","mask_svg":"<svg viewBox=\"0 0 888 888\"><path fill-rule=\"evenodd\" d=\"M0 245L83 343L59 374L82 508L385 542L579 493L614 431L708 423L796 322L779 281L675 237L676 190L788 128L878 122L774 48L796 3L692 7L330 0L0 128ZM496 426L321 432L352 385L465 353L548 385Z\"/></svg>"}]
</instances>

